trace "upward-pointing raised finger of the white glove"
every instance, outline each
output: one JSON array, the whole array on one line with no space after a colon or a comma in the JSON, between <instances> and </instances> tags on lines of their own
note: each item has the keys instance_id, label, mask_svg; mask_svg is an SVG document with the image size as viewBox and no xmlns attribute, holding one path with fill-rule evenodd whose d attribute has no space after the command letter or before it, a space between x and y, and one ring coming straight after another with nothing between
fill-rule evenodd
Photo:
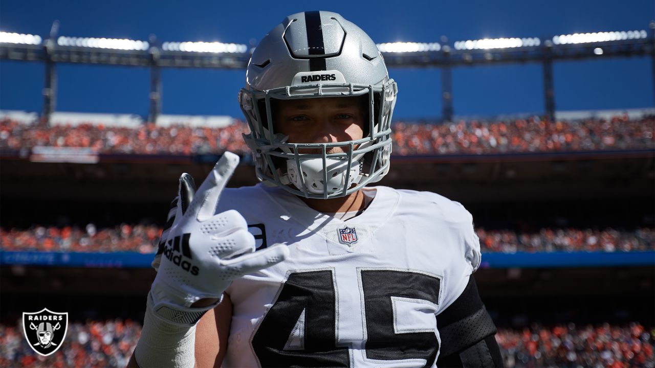
<instances>
[{"instance_id":1,"label":"upward-pointing raised finger of the white glove","mask_svg":"<svg viewBox=\"0 0 655 368\"><path fill-rule=\"evenodd\" d=\"M221 159L214 165L212 172L207 175L196 191L187 212L190 215L195 215L198 221L204 221L212 217L221 193L225 189L225 184L234 174L238 164L239 156L231 152L223 153Z\"/></svg>"}]
</instances>

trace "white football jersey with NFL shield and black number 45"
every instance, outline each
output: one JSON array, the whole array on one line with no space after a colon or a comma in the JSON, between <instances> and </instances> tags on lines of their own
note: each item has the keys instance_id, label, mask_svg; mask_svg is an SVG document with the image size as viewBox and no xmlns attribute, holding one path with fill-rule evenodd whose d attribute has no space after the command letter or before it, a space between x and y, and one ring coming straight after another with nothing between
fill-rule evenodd
<instances>
[{"instance_id":1,"label":"white football jersey with NFL shield and black number 45","mask_svg":"<svg viewBox=\"0 0 655 368\"><path fill-rule=\"evenodd\" d=\"M435 316L480 263L471 214L428 192L376 191L341 221L261 184L225 189L217 212L237 210L259 249L288 259L234 280L223 367L435 367Z\"/></svg>"}]
</instances>

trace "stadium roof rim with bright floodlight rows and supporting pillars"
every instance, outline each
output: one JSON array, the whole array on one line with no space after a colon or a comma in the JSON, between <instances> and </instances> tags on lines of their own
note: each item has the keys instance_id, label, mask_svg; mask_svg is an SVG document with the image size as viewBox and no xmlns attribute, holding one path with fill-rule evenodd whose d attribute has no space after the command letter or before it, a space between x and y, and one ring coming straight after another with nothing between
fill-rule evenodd
<instances>
[{"instance_id":1,"label":"stadium roof rim with bright floodlight rows and supporting pillars","mask_svg":"<svg viewBox=\"0 0 655 368\"><path fill-rule=\"evenodd\" d=\"M47 38L0 32L0 60L44 62L42 117L49 118L56 105L58 63L105 64L149 67L151 93L149 121L161 111L162 67L245 69L252 49L247 45L219 42L164 42L94 37L58 36L55 22ZM453 119L453 67L536 62L542 64L544 114L555 117L553 62L608 57L650 56L655 90L655 23L650 31L610 31L555 35L550 38L509 37L462 40L449 43L381 43L378 48L388 67L438 67L441 70L443 120ZM650 33L650 34L649 34Z\"/></svg>"}]
</instances>

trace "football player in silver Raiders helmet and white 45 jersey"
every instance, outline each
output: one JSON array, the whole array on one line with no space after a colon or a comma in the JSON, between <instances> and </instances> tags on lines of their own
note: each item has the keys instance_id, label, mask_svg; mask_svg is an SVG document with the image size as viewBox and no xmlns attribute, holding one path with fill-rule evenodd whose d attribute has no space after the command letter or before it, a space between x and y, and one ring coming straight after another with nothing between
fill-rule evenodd
<instances>
[{"instance_id":1,"label":"football player in silver Raiders helmet and white 45 jersey","mask_svg":"<svg viewBox=\"0 0 655 368\"><path fill-rule=\"evenodd\" d=\"M261 181L225 153L183 174L153 262L136 367L492 367L471 214L371 187L389 170L398 88L339 14L301 12L253 52L239 103Z\"/></svg>"}]
</instances>

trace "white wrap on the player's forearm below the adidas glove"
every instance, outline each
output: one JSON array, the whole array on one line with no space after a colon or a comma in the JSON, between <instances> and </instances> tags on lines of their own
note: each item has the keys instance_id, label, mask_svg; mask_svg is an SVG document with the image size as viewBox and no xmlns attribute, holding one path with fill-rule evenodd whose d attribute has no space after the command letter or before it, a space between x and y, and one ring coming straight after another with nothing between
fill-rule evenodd
<instances>
[{"instance_id":1,"label":"white wrap on the player's forearm below the adidas glove","mask_svg":"<svg viewBox=\"0 0 655 368\"><path fill-rule=\"evenodd\" d=\"M148 293L143 329L141 329L141 337L134 350L136 363L140 368L193 367L196 342L195 323L185 325L170 322L157 315L154 308L152 295Z\"/></svg>"}]
</instances>

